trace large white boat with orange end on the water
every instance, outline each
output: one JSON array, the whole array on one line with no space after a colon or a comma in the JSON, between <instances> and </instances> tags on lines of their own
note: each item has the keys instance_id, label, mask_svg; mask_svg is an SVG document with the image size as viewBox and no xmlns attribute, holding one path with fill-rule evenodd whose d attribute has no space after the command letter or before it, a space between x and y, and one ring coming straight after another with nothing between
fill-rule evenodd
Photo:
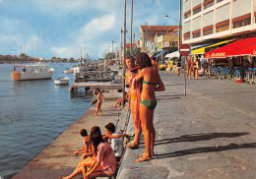
<instances>
[{"instance_id":1,"label":"large white boat with orange end on the water","mask_svg":"<svg viewBox=\"0 0 256 179\"><path fill-rule=\"evenodd\" d=\"M20 70L20 71L17 71ZM35 65L14 66L12 78L14 81L30 81L51 79L54 69L49 68L44 63L36 63Z\"/></svg>"}]
</instances>

